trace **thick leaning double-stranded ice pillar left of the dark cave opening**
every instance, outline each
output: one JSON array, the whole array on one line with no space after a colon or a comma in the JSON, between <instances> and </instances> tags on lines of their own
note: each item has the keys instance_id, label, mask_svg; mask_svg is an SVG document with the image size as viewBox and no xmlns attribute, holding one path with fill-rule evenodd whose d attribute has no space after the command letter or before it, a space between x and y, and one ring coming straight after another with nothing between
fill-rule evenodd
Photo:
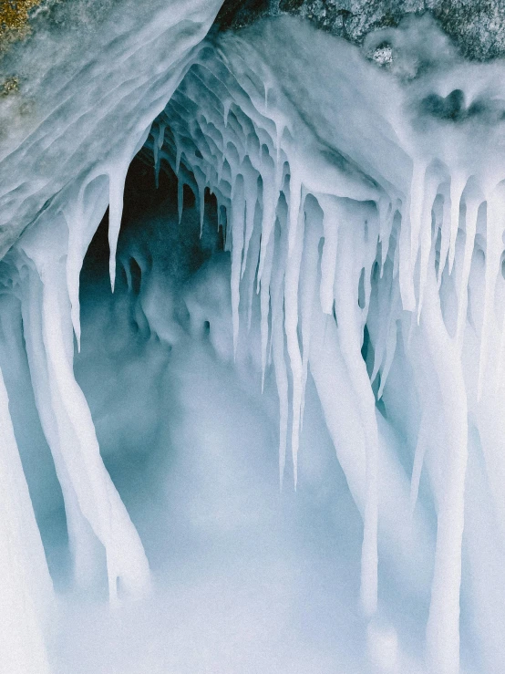
<instances>
[{"instance_id":1,"label":"thick leaning double-stranded ice pillar left of the dark cave opening","mask_svg":"<svg viewBox=\"0 0 505 674\"><path fill-rule=\"evenodd\" d=\"M93 581L105 549L110 600L149 588L149 565L99 454L88 403L74 378L67 289L67 222L45 213L16 253L30 374L60 482L77 582ZM99 542L99 543L98 543Z\"/></svg>"}]
</instances>

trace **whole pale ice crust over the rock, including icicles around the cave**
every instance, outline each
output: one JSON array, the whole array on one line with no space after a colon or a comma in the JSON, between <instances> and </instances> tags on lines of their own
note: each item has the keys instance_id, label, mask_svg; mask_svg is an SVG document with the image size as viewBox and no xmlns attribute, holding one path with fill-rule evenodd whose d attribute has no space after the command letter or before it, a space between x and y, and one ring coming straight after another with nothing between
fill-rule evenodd
<instances>
[{"instance_id":1,"label":"whole pale ice crust over the rock, including icicles around the cave","mask_svg":"<svg viewBox=\"0 0 505 674\"><path fill-rule=\"evenodd\" d=\"M41 104L33 129L17 130L2 150L5 250L31 223L5 257L5 296L21 306L75 582L93 582L101 544L110 601L118 599L118 582L133 596L150 586L147 556L100 458L72 368L83 259L108 207L114 288L124 183L144 146L157 183L168 167L177 175L179 224L185 186L201 234L206 195L214 195L230 295L226 263L216 263L190 283L189 327L168 321L166 270L161 258L153 263L153 246L149 255L130 251L142 278L135 306L149 335L164 344L184 331L200 339L208 321L218 358L242 378L247 361L259 390L274 380L281 489L286 473L297 486L306 391L314 384L311 395L363 520L360 601L370 621L370 671L416 670L396 632L381 627L383 560L402 591L429 603L424 670L470 667L460 665L463 597L479 670L500 671L503 67L462 63L445 43L437 66L413 40L410 52L399 51L405 67L391 73L356 47L286 17L202 40L214 10L206 7L207 20L197 20L201 7L188 16L182 5L169 11L160 4L137 32L131 16L110 33L108 25L107 41L97 40L86 67L63 86L53 88L49 70L46 109ZM425 35L440 45L434 28L426 25ZM130 266L118 259L131 294ZM229 314L211 308L228 302ZM3 324L16 306L5 302ZM19 503L5 490L7 524L29 520L22 535L9 538L5 564L29 549L26 577L46 578L42 604L50 606L2 390L5 461L25 494ZM483 512L490 513L484 522ZM27 593L25 626L28 618L36 623L35 590L14 575L11 588ZM38 615L43 626L40 607ZM50 671L44 627L27 629L43 663L33 670Z\"/></svg>"}]
</instances>

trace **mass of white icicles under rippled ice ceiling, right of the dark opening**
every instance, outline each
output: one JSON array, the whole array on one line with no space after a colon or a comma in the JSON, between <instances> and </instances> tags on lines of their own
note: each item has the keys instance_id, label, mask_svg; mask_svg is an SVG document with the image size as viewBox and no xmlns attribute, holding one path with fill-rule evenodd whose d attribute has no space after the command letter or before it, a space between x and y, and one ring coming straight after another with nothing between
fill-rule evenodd
<instances>
[{"instance_id":1,"label":"mass of white icicles under rippled ice ceiling, right of the dark opening","mask_svg":"<svg viewBox=\"0 0 505 674\"><path fill-rule=\"evenodd\" d=\"M180 214L184 185L191 187L201 223L206 190L215 195L232 258L235 349L240 331L251 327L252 297L260 296L263 381L272 365L279 396L281 487L289 445L296 485L310 369L364 520L367 616L377 608L377 536L418 582L425 577L432 542L417 493L427 464L438 523L434 563L427 565L428 669L455 674L471 433L479 437L495 516L505 521L505 181L481 161L481 147L469 157L468 131L450 130L445 142L436 124L428 149L398 140L414 157L407 190L387 169L368 175L359 157L332 157L271 83L264 61L243 56L246 49L237 39L221 57L201 53L153 124L147 145L156 175L164 162L177 174ZM448 80L441 88L450 92ZM381 159L387 164L379 155L370 165ZM410 484L386 448L394 425L387 404L377 411L395 358L403 359L406 397L413 381L419 406L408 430L417 435ZM469 564L476 586L484 586L473 541ZM488 560L488 571L493 564ZM490 590L481 590L470 601L482 631L489 630L483 648L492 651L492 609L483 606Z\"/></svg>"}]
</instances>

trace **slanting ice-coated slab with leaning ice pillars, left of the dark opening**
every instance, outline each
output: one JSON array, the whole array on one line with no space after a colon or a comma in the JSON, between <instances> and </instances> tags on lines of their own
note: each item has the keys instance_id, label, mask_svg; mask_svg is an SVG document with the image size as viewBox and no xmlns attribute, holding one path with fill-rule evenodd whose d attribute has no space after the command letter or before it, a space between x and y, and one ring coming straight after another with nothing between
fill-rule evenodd
<instances>
[{"instance_id":1,"label":"slanting ice-coated slab with leaning ice pillars, left of the dark opening","mask_svg":"<svg viewBox=\"0 0 505 674\"><path fill-rule=\"evenodd\" d=\"M125 0L97 25L41 29L10 64L23 91L3 100L0 110L9 131L0 134L2 255L29 225L5 258L2 295L21 302L22 347L63 493L75 580L95 582L105 550L112 603L119 593L149 591L149 565L74 378L79 273L108 207L111 241L117 241L129 163L219 6ZM15 305L3 303L3 312L10 330ZM46 635L55 593L1 374L0 432L1 668L49 674Z\"/></svg>"}]
</instances>

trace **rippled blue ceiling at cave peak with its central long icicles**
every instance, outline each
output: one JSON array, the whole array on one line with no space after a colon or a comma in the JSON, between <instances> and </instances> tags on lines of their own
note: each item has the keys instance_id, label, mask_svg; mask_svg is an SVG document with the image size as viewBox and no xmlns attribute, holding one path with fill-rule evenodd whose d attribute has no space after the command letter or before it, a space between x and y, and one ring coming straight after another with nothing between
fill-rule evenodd
<instances>
[{"instance_id":1,"label":"rippled blue ceiling at cave peak with its central long icicles","mask_svg":"<svg viewBox=\"0 0 505 674\"><path fill-rule=\"evenodd\" d=\"M241 71L245 68L239 63ZM194 74L193 74L194 73ZM208 82L202 89L200 82ZM342 170L338 166L324 161L311 145L309 149L300 148L294 141L296 138L296 112L285 115L283 103L263 115L263 101L255 99L255 92L244 89L242 79L233 74L232 68L220 64L219 61L205 67L193 66L190 74L183 80L180 88L166 109L162 118L167 129L167 150L160 149L160 158L169 161L173 170L180 167L173 162L173 157L181 157L181 161L190 168L194 175L200 175L206 166L222 165L222 176L209 171L208 186L215 193L219 202L231 200L229 230L227 241L232 241L232 313L233 337L237 344L241 296L249 296L251 290L243 287L242 268L244 237L251 237L244 221L243 194L251 193L248 202L255 202L256 185L261 182L261 248L257 261L257 284L260 292L261 332L262 332L262 370L267 365L269 343L272 341L273 364L280 397L280 456L281 482L283 481L284 454L287 443L288 417L291 419L291 450L294 466L294 483L297 475L298 442L301 428L302 402L304 398L304 380L309 364L310 338L308 329L313 316L299 316L300 305L309 311L314 296L313 287L306 288L308 297L299 296L300 269L304 254L304 240L311 238L314 223L311 218L314 207L305 212L306 199L315 199L322 209L324 237L322 279L320 295L325 314L331 316L335 312L339 321L339 344L343 354L345 369L349 372L350 387L355 390L358 425L365 430L363 455L364 489L363 515L365 520L365 539L363 552L363 603L366 613L371 615L376 608L376 532L377 532L377 486L376 486L376 452L377 430L375 419L375 399L369 386L366 366L360 356L362 334L365 320L370 283L369 276L375 260L376 239L378 236L378 219L373 207L369 212L364 207L363 213L346 207L346 200L356 199L375 202L384 192L369 181L365 174L354 170ZM207 90L208 103L203 108L202 92ZM222 90L223 111L217 99L217 92ZM210 92L213 92L212 94ZM234 100L227 97L232 92ZM221 92L220 92L221 93ZM203 94L204 95L204 94ZM195 108L198 100L200 109L190 128L187 119L180 116L180 111ZM287 103L285 104L287 108ZM290 108L288 108L290 109ZM291 109L290 109L291 113ZM276 116L277 115L277 116ZM285 119L289 121L285 121ZM298 122L299 123L299 122ZM208 129L212 131L208 131ZM246 130L244 130L246 129ZM291 130L290 130L291 129ZM216 132L219 133L219 145L216 144ZM191 136L188 137L188 132ZM246 135L247 134L247 135ZM248 137L259 139L254 147L247 143ZM177 137L177 140L175 140ZM244 138L245 137L245 138ZM310 139L310 135L305 134ZM157 139L153 140L156 142ZM180 145L183 150L180 150ZM243 149L249 144L247 156ZM241 154L242 159L241 159ZM220 159L220 156L222 159ZM201 161L199 161L199 157ZM293 166L293 168L292 168ZM325 194L325 188L336 192ZM197 187L196 192L201 192ZM351 202L353 203L353 202ZM356 219L354 228L347 235L348 244L342 236L337 254L338 228L345 230L349 225L345 221ZM341 222L342 221L342 222ZM249 218L249 228L253 220ZM355 242L353 232L360 236L363 228L369 230L366 241ZM280 235L276 235L279 228ZM249 232L251 229L249 229ZM350 237L350 238L349 238ZM313 244L314 245L314 244ZM359 258L355 263L354 248L361 245L363 261ZM314 254L313 254L314 255ZM314 257L312 258L314 259ZM316 259L316 258L315 258ZM252 260L252 264L256 263ZM363 270L363 274L362 274ZM314 270L315 272L315 270ZM313 272L313 275L314 275ZM310 275L310 272L308 273ZM340 275L340 276L339 276ZM242 282L241 282L242 276ZM363 276L363 278L362 278ZM363 281L363 279L366 279ZM249 283L252 283L250 277ZM364 282L365 297L363 306L355 306L358 285ZM242 286L242 287L241 287ZM304 320L305 326L302 328ZM300 343L299 332L305 337ZM284 345L285 335L285 345ZM290 383L286 373L289 362ZM288 415L287 395L291 389L291 410ZM329 412L329 410L328 410ZM345 442L352 442L349 436Z\"/></svg>"}]
</instances>

